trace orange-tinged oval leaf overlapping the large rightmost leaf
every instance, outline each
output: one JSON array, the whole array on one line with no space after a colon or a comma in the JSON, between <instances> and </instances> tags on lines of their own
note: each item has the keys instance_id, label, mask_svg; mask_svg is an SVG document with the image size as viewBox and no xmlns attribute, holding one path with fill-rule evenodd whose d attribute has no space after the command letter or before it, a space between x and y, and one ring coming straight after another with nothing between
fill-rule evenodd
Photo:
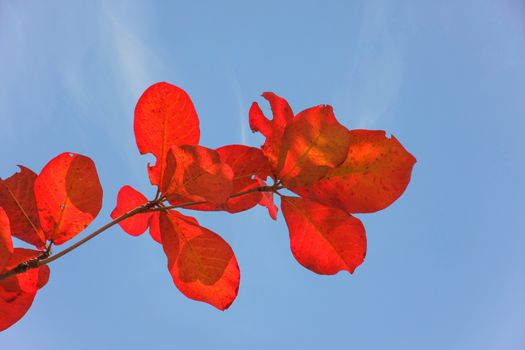
<instances>
[{"instance_id":1,"label":"orange-tinged oval leaf overlapping the large rightmost leaf","mask_svg":"<svg viewBox=\"0 0 525 350\"><path fill-rule=\"evenodd\" d=\"M319 180L345 160L349 143L348 130L335 119L332 107L304 110L284 131L278 178L286 187Z\"/></svg>"}]
</instances>

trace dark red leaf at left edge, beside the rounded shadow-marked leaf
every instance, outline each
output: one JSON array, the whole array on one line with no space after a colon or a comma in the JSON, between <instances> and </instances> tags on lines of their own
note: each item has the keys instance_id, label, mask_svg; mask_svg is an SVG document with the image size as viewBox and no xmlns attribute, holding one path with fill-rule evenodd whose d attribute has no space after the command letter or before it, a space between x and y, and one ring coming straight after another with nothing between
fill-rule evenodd
<instances>
[{"instance_id":1,"label":"dark red leaf at left edge, beside the rounded shadow-marked leaf","mask_svg":"<svg viewBox=\"0 0 525 350\"><path fill-rule=\"evenodd\" d=\"M43 248L45 237L40 228L35 193L37 175L26 167L8 179L0 180L0 207L4 208L13 236L37 248Z\"/></svg>"}]
</instances>

